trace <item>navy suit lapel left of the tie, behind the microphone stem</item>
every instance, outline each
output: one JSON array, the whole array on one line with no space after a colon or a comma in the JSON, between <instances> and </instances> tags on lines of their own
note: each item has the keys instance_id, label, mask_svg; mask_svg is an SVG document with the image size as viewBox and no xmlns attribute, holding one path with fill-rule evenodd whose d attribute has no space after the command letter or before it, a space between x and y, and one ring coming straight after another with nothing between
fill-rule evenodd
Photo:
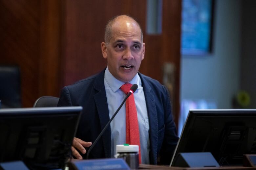
<instances>
[{"instance_id":1,"label":"navy suit lapel left of the tie, behind the microphone stem","mask_svg":"<svg viewBox=\"0 0 256 170\"><path fill-rule=\"evenodd\" d=\"M97 112L99 115L100 127L101 130L105 127L105 125L109 121L109 111L108 111L108 103L107 96L104 85L104 73L105 69L99 73L99 75L95 79L94 89L96 93L94 94L94 100L97 108ZM100 132L99 132L100 133ZM105 157L111 157L111 131L110 126L107 127L106 131L102 135L103 148L105 152Z\"/></svg>"}]
</instances>

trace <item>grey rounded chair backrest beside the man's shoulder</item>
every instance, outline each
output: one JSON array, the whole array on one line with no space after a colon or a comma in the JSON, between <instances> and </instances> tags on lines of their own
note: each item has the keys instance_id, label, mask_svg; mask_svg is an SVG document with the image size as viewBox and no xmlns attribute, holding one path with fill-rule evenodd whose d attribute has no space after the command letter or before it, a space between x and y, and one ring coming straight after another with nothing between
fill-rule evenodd
<instances>
[{"instance_id":1,"label":"grey rounded chair backrest beside the man's shoulder","mask_svg":"<svg viewBox=\"0 0 256 170\"><path fill-rule=\"evenodd\" d=\"M33 107L34 108L39 108L39 107L56 107L59 102L58 97L53 97L53 96L42 96L39 97Z\"/></svg>"}]
</instances>

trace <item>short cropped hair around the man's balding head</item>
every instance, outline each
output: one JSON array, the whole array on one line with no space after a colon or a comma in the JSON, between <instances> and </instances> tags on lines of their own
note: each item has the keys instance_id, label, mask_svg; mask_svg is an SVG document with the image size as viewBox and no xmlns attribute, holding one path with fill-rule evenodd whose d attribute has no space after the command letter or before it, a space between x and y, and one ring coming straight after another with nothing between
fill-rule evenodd
<instances>
[{"instance_id":1,"label":"short cropped hair around the man's balding head","mask_svg":"<svg viewBox=\"0 0 256 170\"><path fill-rule=\"evenodd\" d=\"M131 18L132 20L135 21L135 23L139 26L139 29L140 29L140 38L141 38L141 41L143 42L143 32L142 32L142 29L141 29L141 26L139 25L139 23L131 16L129 15L117 15L117 16L114 16L113 18L111 18L107 24L106 24L106 27L105 27L105 35L104 35L104 40L105 42L108 44L110 42L110 39L112 38L112 25L115 23L115 20L119 17L119 16L126 16L128 18Z\"/></svg>"}]
</instances>

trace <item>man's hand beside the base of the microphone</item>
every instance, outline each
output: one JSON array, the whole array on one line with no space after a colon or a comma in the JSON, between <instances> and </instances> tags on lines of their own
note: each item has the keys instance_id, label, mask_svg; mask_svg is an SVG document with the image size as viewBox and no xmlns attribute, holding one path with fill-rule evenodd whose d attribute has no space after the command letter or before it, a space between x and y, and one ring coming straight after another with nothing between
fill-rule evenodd
<instances>
[{"instance_id":1,"label":"man's hand beside the base of the microphone","mask_svg":"<svg viewBox=\"0 0 256 170\"><path fill-rule=\"evenodd\" d=\"M85 147L91 146L91 142L84 142L81 139L74 138L73 139L73 144L71 146L72 154L77 158L77 159L83 159L82 156L79 154L77 149L82 152L83 154L86 153Z\"/></svg>"}]
</instances>

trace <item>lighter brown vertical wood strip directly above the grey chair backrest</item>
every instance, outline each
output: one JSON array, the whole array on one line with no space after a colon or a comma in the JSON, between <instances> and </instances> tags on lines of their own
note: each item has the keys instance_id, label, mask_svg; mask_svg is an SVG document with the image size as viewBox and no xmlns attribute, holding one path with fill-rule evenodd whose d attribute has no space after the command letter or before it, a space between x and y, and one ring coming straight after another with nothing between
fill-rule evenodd
<instances>
[{"instance_id":1,"label":"lighter brown vertical wood strip directly above the grey chair backrest","mask_svg":"<svg viewBox=\"0 0 256 170\"><path fill-rule=\"evenodd\" d=\"M41 0L40 58L38 96L59 96L63 3L62 0Z\"/></svg>"}]
</instances>

